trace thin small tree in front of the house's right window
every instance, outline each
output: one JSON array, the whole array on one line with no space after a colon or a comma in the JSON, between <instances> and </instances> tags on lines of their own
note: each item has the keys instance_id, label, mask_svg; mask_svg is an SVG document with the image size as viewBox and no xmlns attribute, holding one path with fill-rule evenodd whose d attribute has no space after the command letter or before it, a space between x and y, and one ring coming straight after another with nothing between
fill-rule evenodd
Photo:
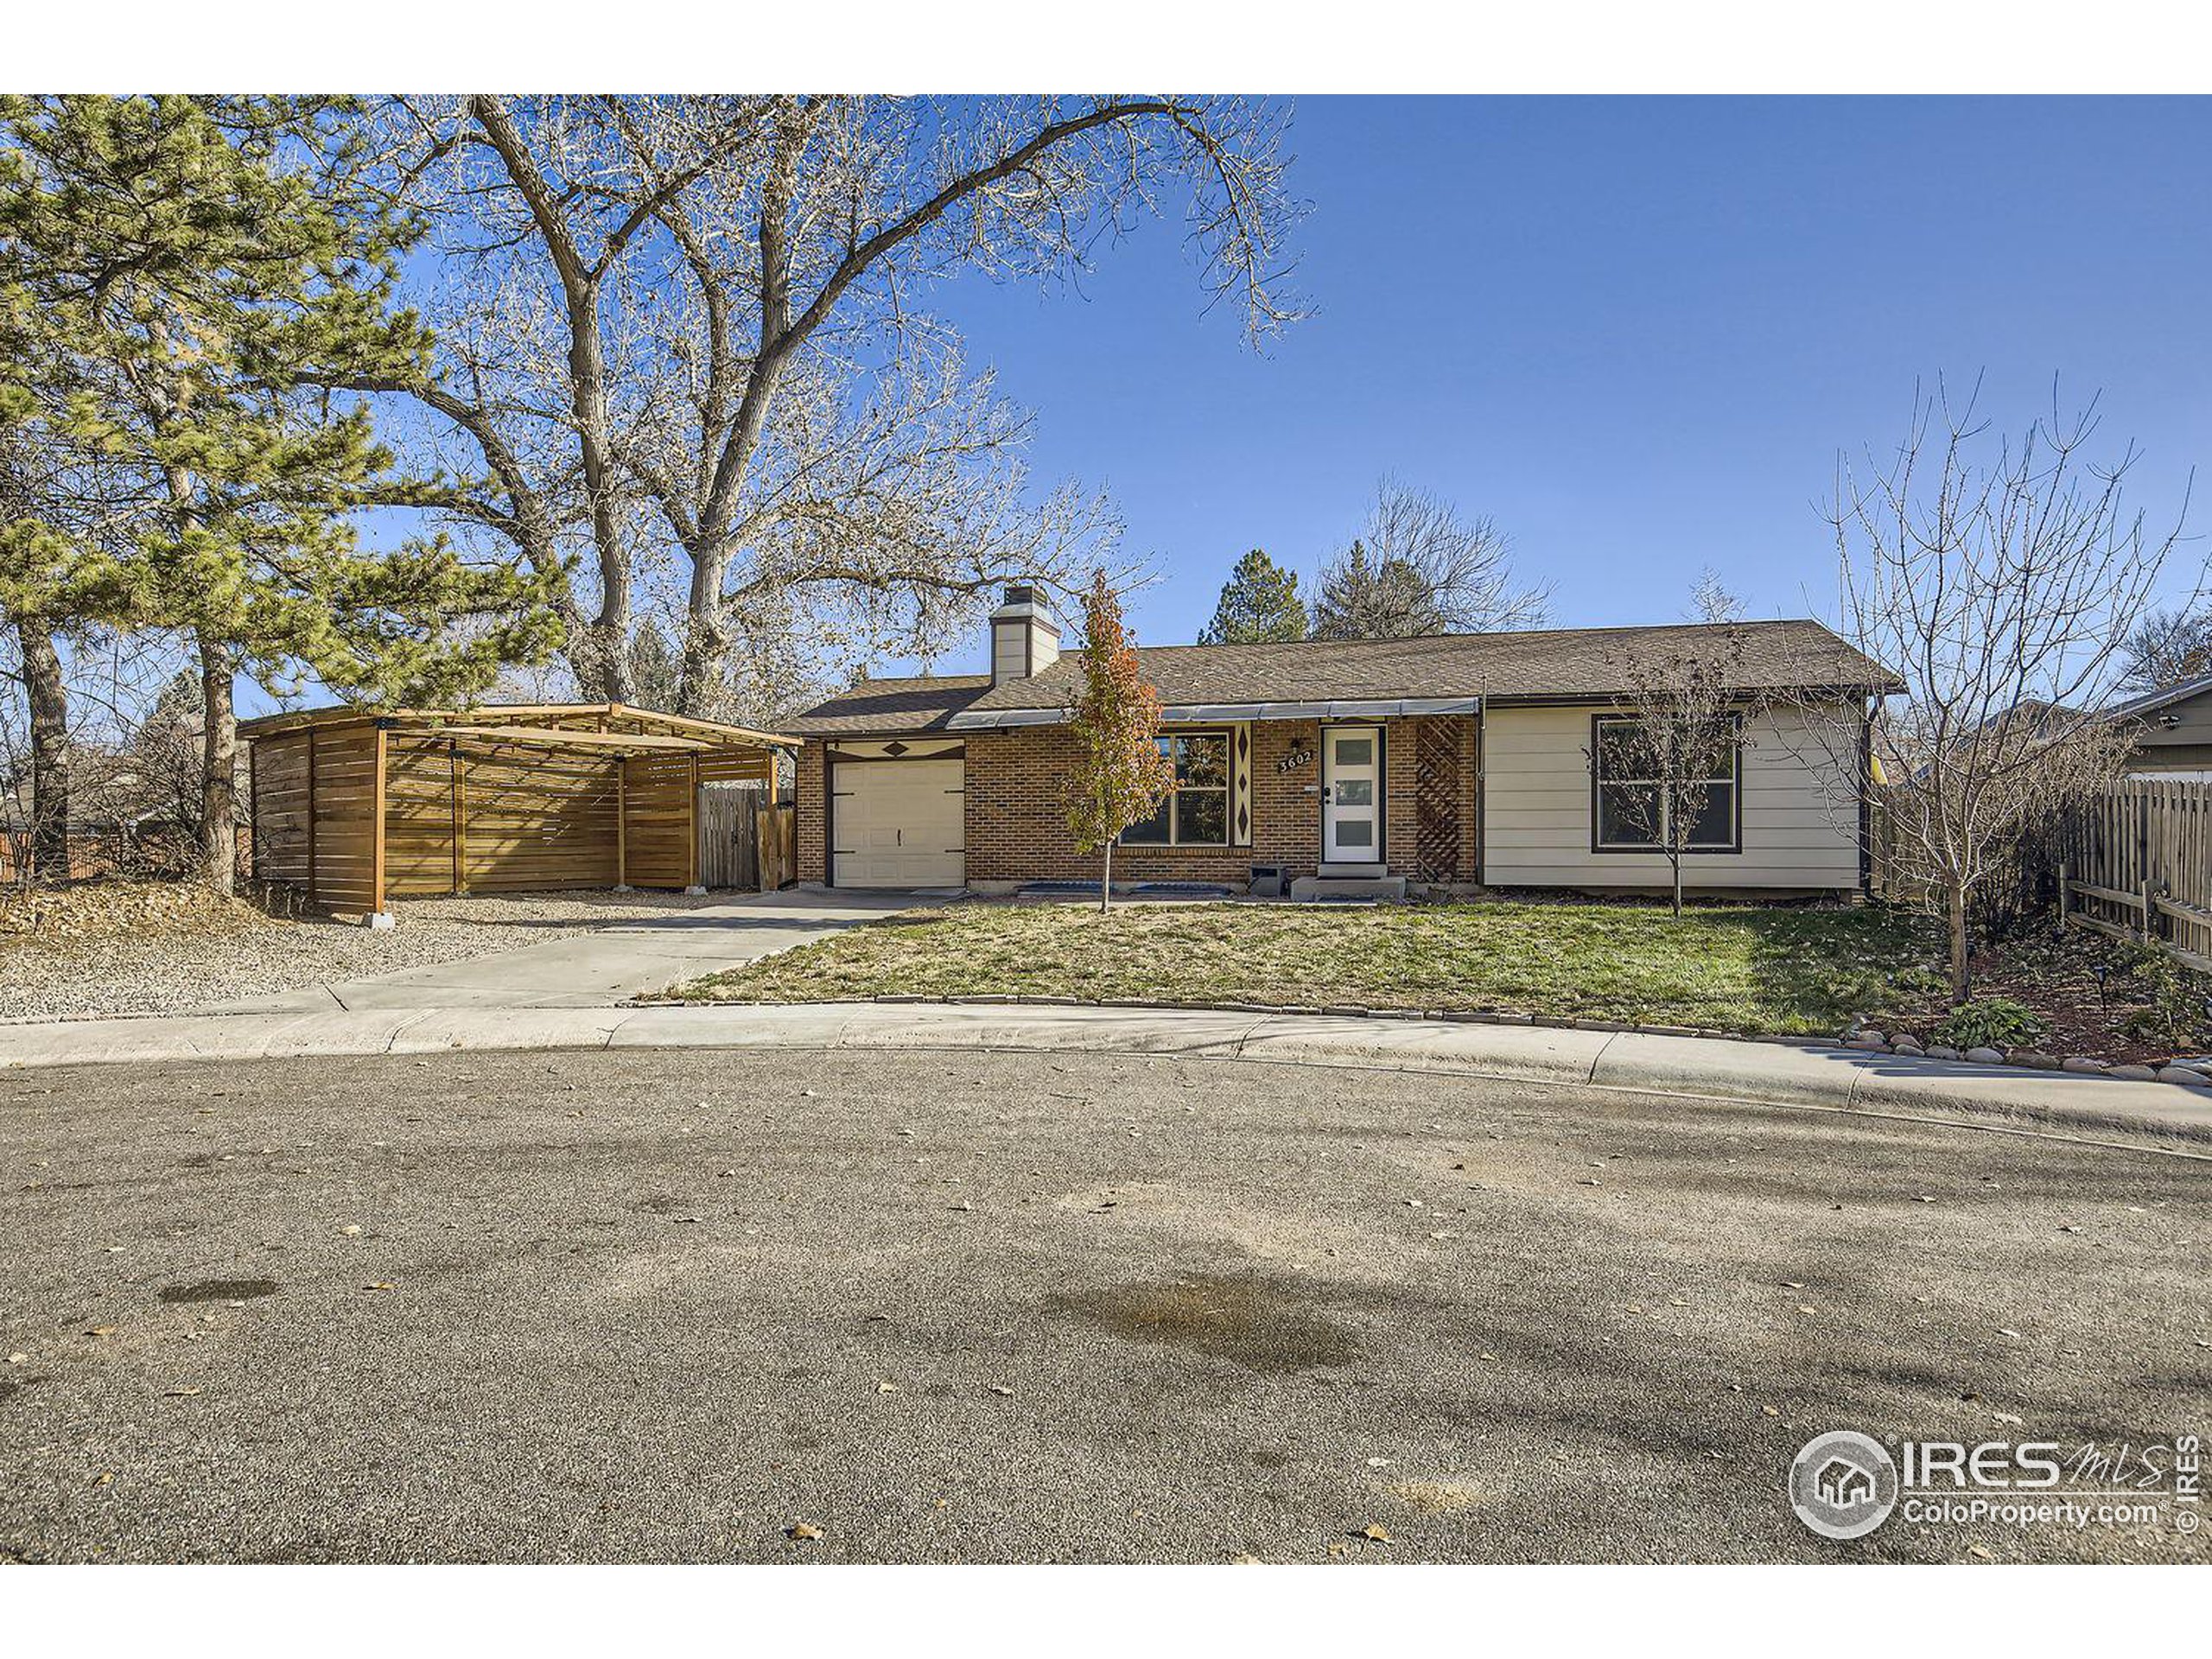
<instances>
[{"instance_id":1,"label":"thin small tree in front of the house's right window","mask_svg":"<svg viewBox=\"0 0 2212 1659\"><path fill-rule=\"evenodd\" d=\"M1652 635L1617 653L1619 719L1597 721L1599 823L1668 860L1674 916L1683 858L1734 841L1734 825L1714 823L1714 812L1736 810L1730 779L1763 706L1745 688L1743 650L1741 630L1728 624Z\"/></svg>"}]
</instances>

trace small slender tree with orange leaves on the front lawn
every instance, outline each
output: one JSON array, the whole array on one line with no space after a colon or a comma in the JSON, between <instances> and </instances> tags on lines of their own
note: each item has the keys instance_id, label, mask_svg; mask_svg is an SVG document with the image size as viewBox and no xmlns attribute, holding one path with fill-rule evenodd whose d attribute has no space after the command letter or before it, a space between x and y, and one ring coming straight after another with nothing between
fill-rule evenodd
<instances>
[{"instance_id":1,"label":"small slender tree with orange leaves on the front lawn","mask_svg":"<svg viewBox=\"0 0 2212 1659\"><path fill-rule=\"evenodd\" d=\"M1159 692L1137 666L1137 641L1121 622L1121 599L1104 571L1084 595L1084 648L1068 703L1075 768L1068 772L1068 827L1082 852L1102 852L1099 909L1113 896L1113 843L1152 814L1175 787L1159 752Z\"/></svg>"}]
</instances>

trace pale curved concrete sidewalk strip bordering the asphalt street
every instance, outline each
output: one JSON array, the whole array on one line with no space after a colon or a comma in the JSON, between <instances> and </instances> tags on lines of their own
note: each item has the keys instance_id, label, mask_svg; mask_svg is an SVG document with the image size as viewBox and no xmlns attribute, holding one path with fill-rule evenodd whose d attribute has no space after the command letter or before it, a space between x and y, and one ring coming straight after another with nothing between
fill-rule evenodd
<instances>
[{"instance_id":1,"label":"pale curved concrete sidewalk strip bordering the asphalt street","mask_svg":"<svg viewBox=\"0 0 2212 1659\"><path fill-rule=\"evenodd\" d=\"M1851 1048L1334 1015L825 1002L274 1011L0 1026L0 1068L469 1048L1079 1048L1380 1066L1670 1095L2117 1128L2212 1144L2205 1091Z\"/></svg>"}]
</instances>

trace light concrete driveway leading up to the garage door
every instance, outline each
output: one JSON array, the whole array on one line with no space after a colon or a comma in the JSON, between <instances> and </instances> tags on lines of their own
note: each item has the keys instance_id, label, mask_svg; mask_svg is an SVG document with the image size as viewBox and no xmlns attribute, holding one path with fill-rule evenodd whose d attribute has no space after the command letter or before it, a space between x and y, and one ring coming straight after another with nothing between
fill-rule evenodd
<instances>
[{"instance_id":1,"label":"light concrete driveway leading up to the garage door","mask_svg":"<svg viewBox=\"0 0 2212 1659\"><path fill-rule=\"evenodd\" d=\"M524 945L462 962L219 1002L201 1013L319 1013L327 1009L606 1009L679 980L741 967L838 929L918 905L925 894L743 894L672 916Z\"/></svg>"}]
</instances>

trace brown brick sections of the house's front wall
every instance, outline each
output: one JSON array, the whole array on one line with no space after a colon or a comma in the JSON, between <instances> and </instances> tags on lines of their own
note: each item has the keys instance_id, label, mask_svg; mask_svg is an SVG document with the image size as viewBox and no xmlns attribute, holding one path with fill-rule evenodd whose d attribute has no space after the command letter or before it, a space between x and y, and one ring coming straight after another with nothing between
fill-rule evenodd
<instances>
[{"instance_id":1,"label":"brown brick sections of the house's front wall","mask_svg":"<svg viewBox=\"0 0 2212 1659\"><path fill-rule=\"evenodd\" d=\"M1418 858L1416 739L1425 721L1389 719L1383 726L1385 827L1383 858L1391 874L1431 878ZM1464 714L1431 717L1451 730L1458 776L1449 803L1455 816L1458 867L1451 878L1475 880L1475 721ZM967 745L967 878L971 885L1029 880L1097 880L1099 856L1075 849L1062 805L1071 759L1066 728L1015 726L962 732ZM841 739L843 741L843 739ZM909 734L909 741L911 734ZM1301 765L1285 770L1294 752ZM827 867L823 838L823 743L799 754L799 880L821 883ZM1250 847L1115 847L1113 874L1121 880L1203 880L1243 887L1252 865L1283 865L1290 876L1312 876L1321 863L1321 723L1252 723L1252 845Z\"/></svg>"}]
</instances>

